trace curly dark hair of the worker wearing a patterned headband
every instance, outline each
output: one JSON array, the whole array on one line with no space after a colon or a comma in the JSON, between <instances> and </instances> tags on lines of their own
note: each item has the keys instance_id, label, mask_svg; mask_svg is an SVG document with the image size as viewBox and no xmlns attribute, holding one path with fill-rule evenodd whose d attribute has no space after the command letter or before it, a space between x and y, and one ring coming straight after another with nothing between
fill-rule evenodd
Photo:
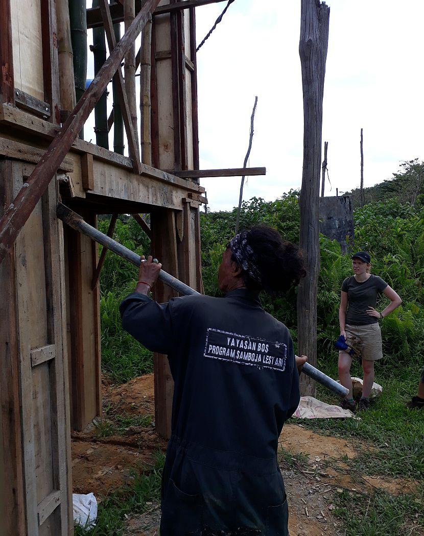
<instances>
[{"instance_id":1,"label":"curly dark hair of the worker wearing a patterned headband","mask_svg":"<svg viewBox=\"0 0 424 536\"><path fill-rule=\"evenodd\" d=\"M242 277L247 288L270 294L287 292L306 276L302 251L296 244L286 242L280 233L267 225L255 225L247 230L247 242L257 256L262 283L254 281L247 272ZM231 259L237 263L234 255Z\"/></svg>"}]
</instances>

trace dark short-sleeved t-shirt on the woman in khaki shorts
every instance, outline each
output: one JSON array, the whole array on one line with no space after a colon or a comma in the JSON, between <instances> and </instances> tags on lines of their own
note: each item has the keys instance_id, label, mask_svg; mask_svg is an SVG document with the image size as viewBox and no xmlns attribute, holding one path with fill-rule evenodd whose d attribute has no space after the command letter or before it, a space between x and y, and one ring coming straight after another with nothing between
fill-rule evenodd
<instances>
[{"instance_id":1,"label":"dark short-sleeved t-shirt on the woman in khaki shorts","mask_svg":"<svg viewBox=\"0 0 424 536\"><path fill-rule=\"evenodd\" d=\"M388 284L374 274L362 283L356 281L354 276L347 277L341 285L342 291L348 295L346 324L364 325L378 322L375 316L367 315L367 309L370 306L375 308L377 295L381 294L386 286Z\"/></svg>"}]
</instances>

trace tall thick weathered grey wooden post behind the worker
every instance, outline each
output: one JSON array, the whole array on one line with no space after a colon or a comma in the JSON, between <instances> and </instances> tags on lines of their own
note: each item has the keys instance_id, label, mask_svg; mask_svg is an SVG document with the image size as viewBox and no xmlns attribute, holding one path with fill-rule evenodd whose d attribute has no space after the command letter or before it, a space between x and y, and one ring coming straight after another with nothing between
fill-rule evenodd
<instances>
[{"instance_id":1,"label":"tall thick weathered grey wooden post behind the worker","mask_svg":"<svg viewBox=\"0 0 424 536\"><path fill-rule=\"evenodd\" d=\"M328 48L330 8L318 0L301 2L299 55L303 86L303 173L299 199L300 247L305 254L306 277L297 296L297 334L299 355L317 362L317 286L319 274L319 179L325 62ZM301 394L315 396L315 382L301 376Z\"/></svg>"}]
</instances>

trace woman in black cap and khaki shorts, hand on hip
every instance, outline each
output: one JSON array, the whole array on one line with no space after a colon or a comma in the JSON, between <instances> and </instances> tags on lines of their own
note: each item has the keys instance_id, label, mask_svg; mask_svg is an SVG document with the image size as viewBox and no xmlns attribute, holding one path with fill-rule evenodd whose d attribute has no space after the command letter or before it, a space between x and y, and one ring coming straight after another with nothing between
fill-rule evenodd
<instances>
[{"instance_id":1,"label":"woman in black cap and khaki shorts, hand on hip","mask_svg":"<svg viewBox=\"0 0 424 536\"><path fill-rule=\"evenodd\" d=\"M369 396L374 383L374 361L383 357L381 330L378 321L396 309L402 300L399 295L381 277L370 273L371 257L366 251L359 251L352 257L353 276L346 278L341 286L339 308L340 334L347 344L354 348L362 358L364 371L360 410L369 407ZM377 295L383 293L390 303L381 312L375 307ZM347 352L339 352L340 383L349 389L349 394L341 406L355 410L352 395L352 379L350 365L352 356Z\"/></svg>"}]
</instances>

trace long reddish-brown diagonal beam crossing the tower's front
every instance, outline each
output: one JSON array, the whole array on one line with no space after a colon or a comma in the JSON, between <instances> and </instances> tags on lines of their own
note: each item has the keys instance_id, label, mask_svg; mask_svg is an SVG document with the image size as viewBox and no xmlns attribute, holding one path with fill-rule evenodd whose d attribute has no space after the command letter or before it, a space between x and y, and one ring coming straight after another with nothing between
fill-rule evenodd
<instances>
[{"instance_id":1,"label":"long reddish-brown diagonal beam crossing the tower's front","mask_svg":"<svg viewBox=\"0 0 424 536\"><path fill-rule=\"evenodd\" d=\"M16 240L21 228L30 217L34 207L46 191L57 168L59 168L65 155L74 143L78 132L82 129L85 121L91 114L105 91L109 80L116 70L120 68L123 57L128 53L138 34L142 31L151 13L157 8L160 0L147 0L128 28L123 38L116 45L103 67L97 73L90 86L72 110L68 120L64 123L52 144L16 198L13 199L9 208L0 219L0 263L3 261L9 248Z\"/></svg>"}]
</instances>

